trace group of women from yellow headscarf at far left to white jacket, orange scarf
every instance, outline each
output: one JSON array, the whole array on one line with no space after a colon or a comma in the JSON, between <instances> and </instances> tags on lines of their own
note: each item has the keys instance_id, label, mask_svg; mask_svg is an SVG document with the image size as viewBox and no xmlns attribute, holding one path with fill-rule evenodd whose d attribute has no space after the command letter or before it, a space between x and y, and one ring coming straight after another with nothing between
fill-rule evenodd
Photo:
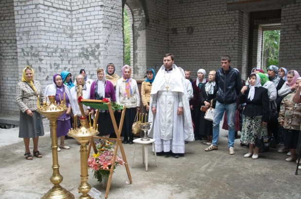
<instances>
[{"instance_id":1,"label":"group of women from yellow headscarf at far left to white jacket, orange scarf","mask_svg":"<svg viewBox=\"0 0 301 199\"><path fill-rule=\"evenodd\" d=\"M79 116L81 116L81 112L77 103L79 96L83 99L108 98L111 101L125 105L127 107L125 113L126 123L130 115L140 109L140 97L137 83L131 77L132 68L126 65L122 68L122 72L123 77L120 78L115 73L115 66L109 63L106 70L98 68L95 71L95 81L88 79L85 69L80 69L75 76L75 82L73 82L72 74L69 71L62 71L60 74L54 74L53 83L47 85L43 92L40 83L34 80L34 69L26 66L22 71L21 82L17 84L16 89L16 103L20 108L19 137L23 138L24 141L25 158L27 160L33 159L29 149L30 138L33 138L34 142L33 155L38 158L42 157L38 150L38 138L44 135L44 129L42 116L37 112L37 102L39 101L40 104L43 102L49 103L49 99L46 102L46 96L55 96L56 104L61 104L65 97L67 110L56 120L56 142L60 138L58 151L70 149L69 146L65 145L65 136L75 124L80 127ZM83 109L87 120L89 121L89 118L91 118L91 122L93 122L94 109L85 105L83 105ZM89 114L90 117L88 117ZM121 115L118 112L115 114L117 116L118 114ZM75 115L78 116L77 122L71 121L74 120ZM113 123L107 110L99 110L97 124L99 135L114 133ZM131 132L132 129L129 128L129 125L123 125L122 133L125 136L130 136L130 140L132 139Z\"/></svg>"}]
</instances>

